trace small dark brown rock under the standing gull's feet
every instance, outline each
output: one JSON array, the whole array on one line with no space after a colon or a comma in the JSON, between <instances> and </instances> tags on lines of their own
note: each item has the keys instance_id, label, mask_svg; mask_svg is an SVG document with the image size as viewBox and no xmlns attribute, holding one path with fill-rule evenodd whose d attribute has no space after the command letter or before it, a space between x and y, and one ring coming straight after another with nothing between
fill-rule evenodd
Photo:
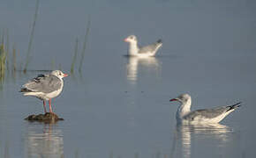
<instances>
[{"instance_id":1,"label":"small dark brown rock under the standing gull's feet","mask_svg":"<svg viewBox=\"0 0 256 158\"><path fill-rule=\"evenodd\" d=\"M46 112L45 114L29 115L25 118L28 121L38 121L44 123L55 123L59 120L64 120L64 118L59 118L55 113Z\"/></svg>"}]
</instances>

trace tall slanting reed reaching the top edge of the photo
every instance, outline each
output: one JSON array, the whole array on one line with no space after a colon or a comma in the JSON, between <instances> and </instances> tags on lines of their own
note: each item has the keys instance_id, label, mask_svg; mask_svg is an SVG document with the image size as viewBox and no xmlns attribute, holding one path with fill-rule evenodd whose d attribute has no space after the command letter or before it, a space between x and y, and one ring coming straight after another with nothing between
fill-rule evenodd
<instances>
[{"instance_id":1,"label":"tall slanting reed reaching the top edge of the photo","mask_svg":"<svg viewBox=\"0 0 256 158\"><path fill-rule=\"evenodd\" d=\"M30 33L30 38L29 38L29 43L28 43L28 48L27 48L27 52L26 52L26 63L25 63L25 67L23 72L26 73L26 69L27 69L27 65L30 61L30 54L31 54L31 47L32 47L32 42L34 39L34 28L35 28L35 22L38 16L38 9L39 9L39 0L36 0L36 4L35 4L35 12L34 12L34 22L32 25L32 30Z\"/></svg>"}]
</instances>

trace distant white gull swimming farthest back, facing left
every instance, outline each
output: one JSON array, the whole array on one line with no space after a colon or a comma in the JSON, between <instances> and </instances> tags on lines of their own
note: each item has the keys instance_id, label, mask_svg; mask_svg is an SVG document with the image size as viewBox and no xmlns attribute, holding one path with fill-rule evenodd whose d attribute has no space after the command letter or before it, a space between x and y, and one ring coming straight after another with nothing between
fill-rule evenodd
<instances>
[{"instance_id":1,"label":"distant white gull swimming farthest back, facing left","mask_svg":"<svg viewBox=\"0 0 256 158\"><path fill-rule=\"evenodd\" d=\"M162 39L157 40L155 43L148 45L146 47L138 47L138 41L135 35L130 35L125 42L130 44L128 54L131 56L139 57L150 57L154 56L157 50L162 47Z\"/></svg>"}]
</instances>

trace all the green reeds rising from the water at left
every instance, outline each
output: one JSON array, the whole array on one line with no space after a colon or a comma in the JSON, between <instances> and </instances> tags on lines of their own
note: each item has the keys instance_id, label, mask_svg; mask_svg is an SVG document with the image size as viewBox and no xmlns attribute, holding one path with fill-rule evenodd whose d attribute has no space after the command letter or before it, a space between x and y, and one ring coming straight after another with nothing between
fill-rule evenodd
<instances>
[{"instance_id":1,"label":"all the green reeds rising from the water at left","mask_svg":"<svg viewBox=\"0 0 256 158\"><path fill-rule=\"evenodd\" d=\"M29 69L29 63L33 59L32 47L34 44L34 32L36 31L36 21L39 18L39 7L40 7L39 0L37 0L35 2L33 25L32 25L31 32L29 33L26 59L23 62L21 60L19 61L20 63L17 63L18 62L17 59L19 58L19 55L17 54L18 50L16 48L15 43L13 44L10 43L9 30L6 28L5 29L2 28L2 30L0 30L0 82L1 83L4 82L4 76L8 72L11 72L11 74L13 75L17 71L23 72L24 74L26 74L27 71L51 71L55 69L56 67L55 60L51 60L51 63L49 63L51 70L50 69L38 69L38 70ZM83 45L82 45L82 50L80 54L79 54L79 42L81 40L79 40L79 38L75 39L75 46L74 46L74 52L71 60L71 69L70 69L71 75L74 75L75 71L78 71L79 74L81 75L82 65L83 65L86 50L87 50L87 42L88 42L90 27L91 27L91 18L90 16L88 16L86 32L84 35L84 40L82 41ZM77 63L78 60L79 60L79 63ZM62 69L60 64L58 64L57 66L59 69Z\"/></svg>"}]
</instances>

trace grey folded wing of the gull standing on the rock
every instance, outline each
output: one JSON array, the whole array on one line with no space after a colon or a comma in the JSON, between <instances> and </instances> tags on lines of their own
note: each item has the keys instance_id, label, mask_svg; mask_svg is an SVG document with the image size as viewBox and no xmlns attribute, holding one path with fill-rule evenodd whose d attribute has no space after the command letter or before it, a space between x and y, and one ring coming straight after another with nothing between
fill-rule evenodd
<instances>
[{"instance_id":1,"label":"grey folded wing of the gull standing on the rock","mask_svg":"<svg viewBox=\"0 0 256 158\"><path fill-rule=\"evenodd\" d=\"M55 75L38 75L33 80L23 85L21 91L40 91L50 93L60 89L62 86L61 80Z\"/></svg>"}]
</instances>

